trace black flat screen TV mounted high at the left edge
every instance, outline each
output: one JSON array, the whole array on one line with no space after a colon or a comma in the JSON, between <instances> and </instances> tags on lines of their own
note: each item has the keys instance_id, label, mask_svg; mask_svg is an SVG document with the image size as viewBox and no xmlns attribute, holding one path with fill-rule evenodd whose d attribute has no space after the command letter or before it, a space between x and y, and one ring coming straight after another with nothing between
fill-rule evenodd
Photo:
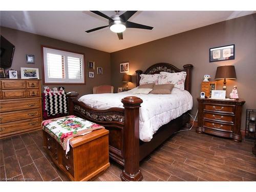
<instances>
[{"instance_id":1,"label":"black flat screen TV mounted high at the left edge","mask_svg":"<svg viewBox=\"0 0 256 192\"><path fill-rule=\"evenodd\" d=\"M1 47L1 60L0 66L3 68L9 68L12 65L12 58L14 54L15 46L11 44L5 37L1 35L0 37L0 47Z\"/></svg>"}]
</instances>

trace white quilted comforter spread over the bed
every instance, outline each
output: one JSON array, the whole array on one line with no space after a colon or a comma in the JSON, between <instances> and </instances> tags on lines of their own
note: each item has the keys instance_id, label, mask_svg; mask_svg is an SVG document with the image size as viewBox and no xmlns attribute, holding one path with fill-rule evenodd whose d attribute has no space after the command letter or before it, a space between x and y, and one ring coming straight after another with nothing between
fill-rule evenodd
<instances>
[{"instance_id":1,"label":"white quilted comforter spread over the bed","mask_svg":"<svg viewBox=\"0 0 256 192\"><path fill-rule=\"evenodd\" d=\"M135 88L137 89L137 88ZM123 108L121 99L127 96L136 96L143 100L140 108L140 140L150 141L154 133L163 124L175 119L192 109L192 96L187 91L177 88L172 94L132 94L132 91L123 93L90 94L79 98L91 108L105 110L110 108Z\"/></svg>"}]
</instances>

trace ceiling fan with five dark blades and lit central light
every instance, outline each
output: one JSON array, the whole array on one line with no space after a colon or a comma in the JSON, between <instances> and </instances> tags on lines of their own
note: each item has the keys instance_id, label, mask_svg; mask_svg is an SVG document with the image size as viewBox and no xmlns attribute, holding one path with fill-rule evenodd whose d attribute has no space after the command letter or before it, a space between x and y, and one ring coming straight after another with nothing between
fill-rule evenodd
<instances>
[{"instance_id":1,"label":"ceiling fan with five dark blades and lit central light","mask_svg":"<svg viewBox=\"0 0 256 192\"><path fill-rule=\"evenodd\" d=\"M145 26L145 25L141 25L141 24L136 24L133 22L129 22L128 19L133 16L137 11L126 11L123 14L119 15L118 11L116 11L116 14L109 17L108 15L105 15L103 13L101 13L100 11L91 11L99 16L102 16L106 19L109 19L109 25L106 26L102 26L102 27L97 27L91 30L86 31L87 33L93 32L93 31L97 31L99 29L103 29L105 27L110 27L110 30L117 33L117 36L119 39L123 39L123 31L126 28L138 28L138 29L148 29L148 30L152 30L153 27L150 26Z\"/></svg>"}]
</instances>

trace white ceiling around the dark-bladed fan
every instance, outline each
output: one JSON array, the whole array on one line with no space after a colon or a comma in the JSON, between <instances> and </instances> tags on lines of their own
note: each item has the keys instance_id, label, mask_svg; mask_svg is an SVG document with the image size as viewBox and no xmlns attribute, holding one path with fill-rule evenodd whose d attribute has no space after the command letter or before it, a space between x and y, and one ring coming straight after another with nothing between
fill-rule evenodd
<instances>
[{"instance_id":1,"label":"white ceiling around the dark-bladed fan","mask_svg":"<svg viewBox=\"0 0 256 192\"><path fill-rule=\"evenodd\" d=\"M102 11L108 16L115 11ZM145 42L191 29L222 22L256 11L138 11L130 19L153 30L128 28L123 40L104 28L92 33L84 31L108 25L108 19L89 11L1 11L1 26L72 42L93 49L115 52ZM122 14L123 11L120 12Z\"/></svg>"}]
</instances>

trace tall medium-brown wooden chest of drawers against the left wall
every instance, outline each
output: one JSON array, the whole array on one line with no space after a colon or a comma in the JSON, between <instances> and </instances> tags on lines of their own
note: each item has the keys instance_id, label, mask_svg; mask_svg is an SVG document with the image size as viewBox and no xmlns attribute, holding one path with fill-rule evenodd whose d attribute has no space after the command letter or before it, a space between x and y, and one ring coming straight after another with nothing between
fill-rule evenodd
<instances>
[{"instance_id":1,"label":"tall medium-brown wooden chest of drawers against the left wall","mask_svg":"<svg viewBox=\"0 0 256 192\"><path fill-rule=\"evenodd\" d=\"M39 79L0 79L0 139L41 129Z\"/></svg>"}]
</instances>

